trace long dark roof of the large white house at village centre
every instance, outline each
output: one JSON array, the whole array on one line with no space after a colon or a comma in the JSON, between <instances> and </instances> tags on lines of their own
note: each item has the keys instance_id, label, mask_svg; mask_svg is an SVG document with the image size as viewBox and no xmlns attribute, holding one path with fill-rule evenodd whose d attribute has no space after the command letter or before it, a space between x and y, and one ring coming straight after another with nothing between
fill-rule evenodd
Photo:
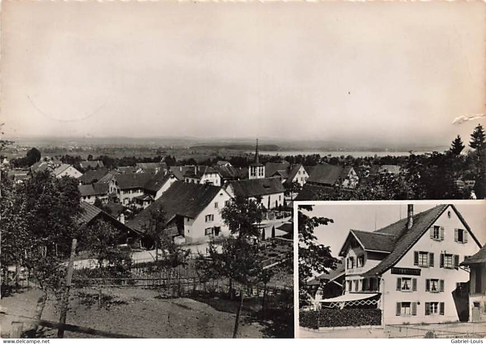
<instances>
[{"instance_id":1,"label":"long dark roof of the large white house at village centre","mask_svg":"<svg viewBox=\"0 0 486 344\"><path fill-rule=\"evenodd\" d=\"M127 226L144 230L150 223L151 212L157 209L164 211L166 223L176 215L196 218L220 192L226 191L219 186L176 180L162 196L128 221Z\"/></svg>"}]
</instances>

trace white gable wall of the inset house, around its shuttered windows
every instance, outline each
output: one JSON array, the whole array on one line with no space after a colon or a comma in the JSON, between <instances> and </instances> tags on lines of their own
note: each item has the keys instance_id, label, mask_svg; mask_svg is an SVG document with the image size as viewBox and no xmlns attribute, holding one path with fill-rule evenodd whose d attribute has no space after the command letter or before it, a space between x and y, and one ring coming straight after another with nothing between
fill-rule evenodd
<instances>
[{"instance_id":1,"label":"white gable wall of the inset house, around its shuttered windows","mask_svg":"<svg viewBox=\"0 0 486 344\"><path fill-rule=\"evenodd\" d=\"M451 218L448 217L448 212L451 213ZM401 268L420 269L420 276L394 275L391 270L386 271L382 275L382 293L383 293L383 312L385 324L402 324L408 323L439 323L446 321L457 321L458 315L452 298L452 291L456 289L456 282L467 282L469 280L469 273L459 269L446 269L439 267L440 254L447 252L452 254L459 254L459 262L464 260L464 256L471 256L479 250L479 246L469 235L468 243L457 243L454 241L454 229L465 229L460 222L455 212L451 207L437 219L433 224L444 227L444 240L436 241L430 238L429 231L418 240L414 245L395 265ZM414 265L414 251L434 252L434 267L419 267ZM417 278L416 292L401 292L397 291L397 278L411 277ZM425 291L426 279L436 278L444 280L444 292L431 293ZM396 302L420 302L417 305L417 315L396 315ZM444 315L434 314L425 315L425 302L444 302Z\"/></svg>"}]
</instances>

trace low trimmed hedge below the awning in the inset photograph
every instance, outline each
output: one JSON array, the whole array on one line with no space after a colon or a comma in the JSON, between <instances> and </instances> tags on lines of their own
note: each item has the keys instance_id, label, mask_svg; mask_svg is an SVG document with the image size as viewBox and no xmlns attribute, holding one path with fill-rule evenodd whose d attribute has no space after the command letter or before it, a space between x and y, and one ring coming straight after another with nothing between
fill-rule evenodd
<instances>
[{"instance_id":1,"label":"low trimmed hedge below the awning in the inset photograph","mask_svg":"<svg viewBox=\"0 0 486 344\"><path fill-rule=\"evenodd\" d=\"M319 321L317 321L319 316ZM376 309L345 308L300 311L299 325L306 328L381 325L382 311Z\"/></svg>"}]
</instances>

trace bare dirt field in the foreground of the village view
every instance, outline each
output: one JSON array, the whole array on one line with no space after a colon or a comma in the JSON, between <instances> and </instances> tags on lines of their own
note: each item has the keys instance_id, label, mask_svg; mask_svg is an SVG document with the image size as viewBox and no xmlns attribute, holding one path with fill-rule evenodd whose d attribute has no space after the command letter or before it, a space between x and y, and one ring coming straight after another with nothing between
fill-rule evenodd
<instances>
[{"instance_id":1,"label":"bare dirt field in the foreground of the village view","mask_svg":"<svg viewBox=\"0 0 486 344\"><path fill-rule=\"evenodd\" d=\"M158 293L145 289L112 289L104 291L113 298L98 309L97 303L90 308L81 304L83 299L71 302L67 323L120 334L146 338L231 338L237 302L218 298L194 300L176 298L157 299ZM1 306L10 314L34 316L36 300L40 293L25 291L1 300ZM116 296L115 296L116 295ZM95 300L95 298L85 298ZM203 302L201 302L203 301ZM270 332L268 324L252 318L251 309L243 311L238 330L239 338L262 338ZM42 315L44 320L58 321L59 315L52 302L48 302ZM16 320L0 316L2 337L10 331ZM56 332L46 329L44 338L54 337ZM89 335L66 332L66 338L89 338Z\"/></svg>"}]
</instances>

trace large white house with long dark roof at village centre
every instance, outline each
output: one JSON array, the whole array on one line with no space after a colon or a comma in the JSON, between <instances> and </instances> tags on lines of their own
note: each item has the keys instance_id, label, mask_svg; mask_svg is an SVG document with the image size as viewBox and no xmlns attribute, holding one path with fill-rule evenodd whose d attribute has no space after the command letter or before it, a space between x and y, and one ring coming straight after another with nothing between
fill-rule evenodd
<instances>
[{"instance_id":1,"label":"large white house with long dark roof at village centre","mask_svg":"<svg viewBox=\"0 0 486 344\"><path fill-rule=\"evenodd\" d=\"M230 195L219 186L174 181L169 189L150 206L127 222L127 226L144 231L151 225L152 214L163 211L166 233L186 244L206 243L229 234L221 210Z\"/></svg>"}]
</instances>

